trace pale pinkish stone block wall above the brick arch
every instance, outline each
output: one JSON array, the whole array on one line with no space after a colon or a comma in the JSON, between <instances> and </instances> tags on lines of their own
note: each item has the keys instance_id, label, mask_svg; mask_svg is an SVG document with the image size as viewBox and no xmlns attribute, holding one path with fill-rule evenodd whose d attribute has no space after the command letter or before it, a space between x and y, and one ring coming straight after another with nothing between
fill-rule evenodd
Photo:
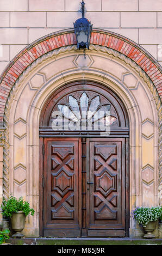
<instances>
[{"instance_id":1,"label":"pale pinkish stone block wall above the brick arch","mask_svg":"<svg viewBox=\"0 0 162 256\"><path fill-rule=\"evenodd\" d=\"M0 0L0 74L28 44L52 32L73 28L77 0ZM85 0L94 28L126 36L162 63L161 0Z\"/></svg>"}]
</instances>

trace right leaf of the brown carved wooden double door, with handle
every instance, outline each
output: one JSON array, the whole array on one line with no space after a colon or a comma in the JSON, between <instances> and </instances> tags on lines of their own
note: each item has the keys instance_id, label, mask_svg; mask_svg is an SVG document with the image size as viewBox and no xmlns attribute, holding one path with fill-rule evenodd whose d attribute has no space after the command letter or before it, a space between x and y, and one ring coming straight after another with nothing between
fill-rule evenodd
<instances>
[{"instance_id":1,"label":"right leaf of the brown carved wooden double door, with handle","mask_svg":"<svg viewBox=\"0 0 162 256\"><path fill-rule=\"evenodd\" d=\"M88 234L105 236L125 231L124 139L91 138ZM114 233L114 234L115 234ZM103 231L102 231L103 235Z\"/></svg>"}]
</instances>

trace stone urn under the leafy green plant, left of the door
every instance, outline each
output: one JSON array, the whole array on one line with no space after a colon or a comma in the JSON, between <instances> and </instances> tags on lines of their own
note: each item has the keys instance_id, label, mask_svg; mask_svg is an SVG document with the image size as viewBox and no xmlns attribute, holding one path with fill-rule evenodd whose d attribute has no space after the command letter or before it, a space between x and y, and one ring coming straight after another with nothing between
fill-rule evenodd
<instances>
[{"instance_id":1,"label":"stone urn under the leafy green plant, left of the door","mask_svg":"<svg viewBox=\"0 0 162 256\"><path fill-rule=\"evenodd\" d=\"M14 212L11 217L11 227L14 231L13 237L22 237L21 231L24 229L24 224L26 221L26 215L23 211Z\"/></svg>"}]
</instances>

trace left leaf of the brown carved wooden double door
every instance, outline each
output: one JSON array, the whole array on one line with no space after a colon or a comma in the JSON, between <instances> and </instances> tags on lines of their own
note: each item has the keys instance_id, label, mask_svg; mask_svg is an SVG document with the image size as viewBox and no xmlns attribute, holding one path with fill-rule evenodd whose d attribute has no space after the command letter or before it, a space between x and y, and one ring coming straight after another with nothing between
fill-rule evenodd
<instances>
[{"instance_id":1,"label":"left leaf of the brown carved wooden double door","mask_svg":"<svg viewBox=\"0 0 162 256\"><path fill-rule=\"evenodd\" d=\"M43 205L46 235L50 228L53 235L71 236L73 229L80 234L78 154L78 139L45 139Z\"/></svg>"}]
</instances>

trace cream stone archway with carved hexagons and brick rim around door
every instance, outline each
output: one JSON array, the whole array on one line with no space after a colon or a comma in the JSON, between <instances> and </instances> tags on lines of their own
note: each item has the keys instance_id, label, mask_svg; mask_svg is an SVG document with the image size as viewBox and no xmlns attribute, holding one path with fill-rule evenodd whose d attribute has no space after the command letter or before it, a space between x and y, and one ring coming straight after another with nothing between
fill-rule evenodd
<instances>
[{"instance_id":1,"label":"cream stone archway with carved hexagons and brick rim around door","mask_svg":"<svg viewBox=\"0 0 162 256\"><path fill-rule=\"evenodd\" d=\"M112 48L95 45L109 44L110 39L113 40ZM159 204L158 127L161 105L158 88L155 89L146 72L129 57L134 56L134 60L141 58L141 61L146 61L145 64L150 61L148 74L157 74L157 86L160 84L159 67L146 54L144 56L138 46L135 48L132 42L118 35L94 32L91 40L94 44L91 44L84 59L76 45L65 46L65 43L74 44L73 33L49 35L41 42L35 42L30 50L22 51L6 70L1 83L4 88L12 87L9 96L5 94L2 99L7 99L4 114L3 192L5 197L10 192L15 196L23 195L34 206L36 215L34 218L29 217L26 223L25 233L28 235L39 235L38 155L41 109L55 90L73 81L102 83L120 97L128 111L130 123L130 211L138 205ZM57 42L58 50L50 48L54 42ZM61 42L64 42L62 47ZM127 46L127 51L121 47L123 45ZM51 51L48 52L47 47ZM119 52L128 54L128 48L132 52L129 57ZM26 67L23 58L28 59ZM131 220L130 235L138 234L140 230Z\"/></svg>"}]
</instances>

